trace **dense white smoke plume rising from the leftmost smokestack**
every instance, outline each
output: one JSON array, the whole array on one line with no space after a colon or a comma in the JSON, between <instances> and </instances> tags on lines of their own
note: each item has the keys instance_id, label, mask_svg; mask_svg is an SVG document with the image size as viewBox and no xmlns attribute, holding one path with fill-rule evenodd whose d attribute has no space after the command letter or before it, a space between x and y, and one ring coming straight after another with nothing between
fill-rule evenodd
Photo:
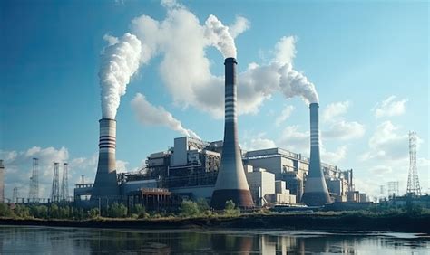
<instances>
[{"instance_id":1,"label":"dense white smoke plume rising from the leftmost smokestack","mask_svg":"<svg viewBox=\"0 0 430 255\"><path fill-rule=\"evenodd\" d=\"M109 39L110 45L101 55L99 71L103 118L115 118L120 98L125 94L127 84L138 70L142 52L141 41L131 33L121 38ZM113 43L113 44L112 44Z\"/></svg>"}]
</instances>

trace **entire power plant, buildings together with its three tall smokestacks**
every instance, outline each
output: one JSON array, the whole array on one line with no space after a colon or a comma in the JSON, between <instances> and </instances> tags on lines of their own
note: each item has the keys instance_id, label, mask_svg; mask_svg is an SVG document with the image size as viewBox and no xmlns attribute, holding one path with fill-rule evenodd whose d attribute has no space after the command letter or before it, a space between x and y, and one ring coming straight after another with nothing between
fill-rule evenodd
<instances>
[{"instance_id":1,"label":"entire power plant, buildings together with its three tall smokestacks","mask_svg":"<svg viewBox=\"0 0 430 255\"><path fill-rule=\"evenodd\" d=\"M178 137L166 151L152 153L137 173L116 174L116 121L100 120L99 162L93 184L76 184L74 201L83 206L115 201L142 203L152 210L183 199L205 199L215 210L233 201L239 208L275 205L323 206L364 202L354 188L353 170L321 162L318 103L310 109L310 158L281 148L243 151L237 122L237 61L225 65L224 139L206 142Z\"/></svg>"}]
</instances>

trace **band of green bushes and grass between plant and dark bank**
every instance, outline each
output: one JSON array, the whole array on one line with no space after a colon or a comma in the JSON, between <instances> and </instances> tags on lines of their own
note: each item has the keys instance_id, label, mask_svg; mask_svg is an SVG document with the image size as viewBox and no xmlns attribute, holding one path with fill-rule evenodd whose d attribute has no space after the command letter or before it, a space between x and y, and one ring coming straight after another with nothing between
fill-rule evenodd
<instances>
[{"instance_id":1,"label":"band of green bushes and grass between plant and dark bank","mask_svg":"<svg viewBox=\"0 0 430 255\"><path fill-rule=\"evenodd\" d=\"M11 204L0 203L0 217L14 219L67 219L67 220L88 220L98 218L118 218L118 219L180 219L180 218L236 218L240 215L279 215L279 214L304 214L302 212L274 213L267 209L251 213L240 213L239 208L231 200L226 202L225 210L212 211L205 199L199 199L196 202L187 200L181 203L178 212L147 212L142 204L136 204L130 210L123 203L112 203L102 212L97 208L83 210L72 205L62 204ZM352 217L367 217L367 218L383 218L387 216L412 216L412 217L428 217L430 209L420 207L413 203L406 203L404 206L395 207L386 203L375 204L368 210L359 211L318 211L315 213L306 213L314 216L352 216Z\"/></svg>"}]
</instances>

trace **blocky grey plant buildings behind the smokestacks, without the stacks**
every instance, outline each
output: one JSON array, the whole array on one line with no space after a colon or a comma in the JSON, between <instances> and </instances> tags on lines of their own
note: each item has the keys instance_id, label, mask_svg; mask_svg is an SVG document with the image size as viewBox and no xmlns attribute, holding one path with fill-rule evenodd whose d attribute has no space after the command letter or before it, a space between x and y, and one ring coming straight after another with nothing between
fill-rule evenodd
<instances>
[{"instance_id":1,"label":"blocky grey plant buildings behind the smokestacks, without the stacks","mask_svg":"<svg viewBox=\"0 0 430 255\"><path fill-rule=\"evenodd\" d=\"M185 199L204 198L209 202L220 170L222 148L222 141L177 137L168 150L148 156L141 171L117 175L120 197L125 200L136 191L164 189L162 192L167 190ZM300 203L309 171L308 157L269 148L242 151L241 160L256 206ZM333 201L359 202L352 169L342 171L325 163L321 163L321 168ZM77 184L75 201L88 199L92 188L93 184Z\"/></svg>"}]
</instances>

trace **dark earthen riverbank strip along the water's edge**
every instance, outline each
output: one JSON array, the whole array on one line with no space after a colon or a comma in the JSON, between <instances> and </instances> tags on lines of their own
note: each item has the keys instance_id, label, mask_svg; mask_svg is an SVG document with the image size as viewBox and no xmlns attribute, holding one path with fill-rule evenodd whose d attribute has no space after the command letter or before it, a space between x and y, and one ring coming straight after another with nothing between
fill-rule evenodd
<instances>
[{"instance_id":1,"label":"dark earthen riverbank strip along the water's edge","mask_svg":"<svg viewBox=\"0 0 430 255\"><path fill-rule=\"evenodd\" d=\"M94 219L86 221L0 219L0 225L34 225L79 228L166 229L257 229L326 231L404 231L430 233L430 215L320 215L320 214L249 214L238 217Z\"/></svg>"}]
</instances>

